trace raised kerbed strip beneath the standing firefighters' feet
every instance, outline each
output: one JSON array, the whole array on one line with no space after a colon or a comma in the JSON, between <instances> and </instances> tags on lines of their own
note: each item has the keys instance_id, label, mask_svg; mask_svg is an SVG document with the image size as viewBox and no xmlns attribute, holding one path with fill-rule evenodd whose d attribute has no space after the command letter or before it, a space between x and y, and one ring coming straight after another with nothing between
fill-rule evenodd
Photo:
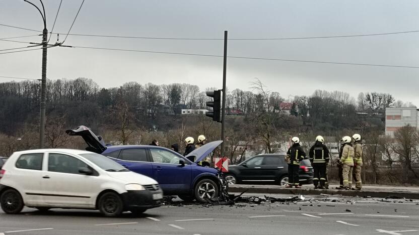
<instances>
[{"instance_id":1,"label":"raised kerbed strip beneath the standing firefighters' feet","mask_svg":"<svg viewBox=\"0 0 419 235\"><path fill-rule=\"evenodd\" d=\"M303 185L303 188L285 188L278 185L245 185L235 184L229 186L229 192L248 192L248 193L278 193L278 194L340 194L343 196L360 197L388 197L395 196L408 199L419 199L419 187L397 187L397 186L376 186L363 185L361 191L337 190L338 185L330 185L329 189L314 189L313 185Z\"/></svg>"}]
</instances>

